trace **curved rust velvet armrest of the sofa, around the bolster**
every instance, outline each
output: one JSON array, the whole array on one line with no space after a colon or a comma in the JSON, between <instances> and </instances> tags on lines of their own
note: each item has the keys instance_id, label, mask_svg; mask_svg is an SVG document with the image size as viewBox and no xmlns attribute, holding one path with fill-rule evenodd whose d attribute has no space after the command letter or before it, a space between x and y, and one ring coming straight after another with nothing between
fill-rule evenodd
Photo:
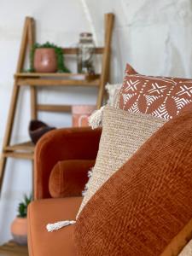
<instances>
[{"instance_id":1,"label":"curved rust velvet armrest of the sofa, around the bolster","mask_svg":"<svg viewBox=\"0 0 192 256\"><path fill-rule=\"evenodd\" d=\"M90 127L49 131L35 150L34 198L49 198L49 175L61 160L94 160L102 130Z\"/></svg>"}]
</instances>

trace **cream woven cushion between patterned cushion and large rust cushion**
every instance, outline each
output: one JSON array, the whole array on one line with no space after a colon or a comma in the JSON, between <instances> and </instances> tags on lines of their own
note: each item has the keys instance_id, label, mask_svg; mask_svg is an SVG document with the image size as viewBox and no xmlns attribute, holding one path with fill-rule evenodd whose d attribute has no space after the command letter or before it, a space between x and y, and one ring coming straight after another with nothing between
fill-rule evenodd
<instances>
[{"instance_id":1,"label":"cream woven cushion between patterned cushion and large rust cushion","mask_svg":"<svg viewBox=\"0 0 192 256\"><path fill-rule=\"evenodd\" d=\"M154 131L165 123L165 119L144 113L128 113L109 106L104 108L102 137L96 165L77 218L96 190L137 151L137 148L145 143Z\"/></svg>"}]
</instances>

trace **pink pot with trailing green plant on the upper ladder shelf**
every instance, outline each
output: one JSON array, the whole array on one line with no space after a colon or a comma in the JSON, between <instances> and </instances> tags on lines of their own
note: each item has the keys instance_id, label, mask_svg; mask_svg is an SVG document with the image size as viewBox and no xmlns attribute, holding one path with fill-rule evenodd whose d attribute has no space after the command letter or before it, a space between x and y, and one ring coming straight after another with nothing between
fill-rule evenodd
<instances>
[{"instance_id":1,"label":"pink pot with trailing green plant on the upper ladder shelf","mask_svg":"<svg viewBox=\"0 0 192 256\"><path fill-rule=\"evenodd\" d=\"M49 42L32 46L29 71L38 73L70 73L64 64L62 48Z\"/></svg>"}]
</instances>

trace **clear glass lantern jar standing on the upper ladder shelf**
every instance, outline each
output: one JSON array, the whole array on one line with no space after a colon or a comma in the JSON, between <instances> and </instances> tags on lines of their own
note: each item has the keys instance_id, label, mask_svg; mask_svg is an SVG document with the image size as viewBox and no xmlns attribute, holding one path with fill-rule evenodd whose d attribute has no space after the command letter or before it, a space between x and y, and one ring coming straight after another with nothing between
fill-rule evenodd
<instances>
[{"instance_id":1,"label":"clear glass lantern jar standing on the upper ladder shelf","mask_svg":"<svg viewBox=\"0 0 192 256\"><path fill-rule=\"evenodd\" d=\"M78 44L78 73L94 74L95 44L92 34L88 32L80 33Z\"/></svg>"}]
</instances>

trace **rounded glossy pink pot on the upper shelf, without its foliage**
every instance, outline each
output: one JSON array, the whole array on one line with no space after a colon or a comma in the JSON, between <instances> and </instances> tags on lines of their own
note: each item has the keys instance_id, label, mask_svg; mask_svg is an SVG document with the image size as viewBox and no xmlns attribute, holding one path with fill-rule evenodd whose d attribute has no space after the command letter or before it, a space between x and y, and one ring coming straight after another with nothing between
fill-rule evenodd
<instances>
[{"instance_id":1,"label":"rounded glossy pink pot on the upper shelf, without its foliage","mask_svg":"<svg viewBox=\"0 0 192 256\"><path fill-rule=\"evenodd\" d=\"M55 73L57 71L57 60L55 49L38 48L34 54L34 68L38 73Z\"/></svg>"}]
</instances>

